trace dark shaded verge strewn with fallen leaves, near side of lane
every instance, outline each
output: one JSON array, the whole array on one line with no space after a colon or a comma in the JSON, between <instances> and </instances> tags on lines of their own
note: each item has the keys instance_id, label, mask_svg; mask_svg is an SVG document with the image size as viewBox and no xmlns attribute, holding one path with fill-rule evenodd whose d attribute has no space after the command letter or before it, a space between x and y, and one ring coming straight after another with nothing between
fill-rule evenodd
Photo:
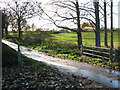
<instances>
[{"instance_id":1,"label":"dark shaded verge strewn with fallen leaves, near side of lane","mask_svg":"<svg viewBox=\"0 0 120 90\"><path fill-rule=\"evenodd\" d=\"M22 55L22 66L17 63L17 52L2 44L2 89L75 89L103 88L100 83L60 73L44 63Z\"/></svg>"}]
</instances>

